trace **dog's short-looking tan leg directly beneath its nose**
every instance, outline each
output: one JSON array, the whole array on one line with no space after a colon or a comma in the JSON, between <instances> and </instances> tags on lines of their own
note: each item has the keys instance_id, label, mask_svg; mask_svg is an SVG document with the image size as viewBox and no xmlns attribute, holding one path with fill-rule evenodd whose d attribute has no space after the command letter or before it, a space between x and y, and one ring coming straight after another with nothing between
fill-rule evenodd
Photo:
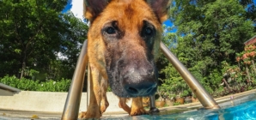
<instances>
[{"instance_id":1,"label":"dog's short-looking tan leg directly beneath its nose","mask_svg":"<svg viewBox=\"0 0 256 120\"><path fill-rule=\"evenodd\" d=\"M137 115L145 115L145 114L149 114L149 112L146 111L143 107L143 98L142 97L132 98L130 115L137 116Z\"/></svg>"}]
</instances>

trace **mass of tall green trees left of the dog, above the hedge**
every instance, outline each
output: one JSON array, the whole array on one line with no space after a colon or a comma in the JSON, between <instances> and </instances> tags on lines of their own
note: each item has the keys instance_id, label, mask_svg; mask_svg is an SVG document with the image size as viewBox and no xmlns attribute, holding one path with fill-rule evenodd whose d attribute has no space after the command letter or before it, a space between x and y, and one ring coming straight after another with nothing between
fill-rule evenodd
<instances>
[{"instance_id":1,"label":"mass of tall green trees left of the dog, above the hedge","mask_svg":"<svg viewBox=\"0 0 256 120\"><path fill-rule=\"evenodd\" d=\"M57 60L60 52L74 64L88 27L61 12L67 1L0 1L0 77L23 77L27 69L35 69L52 78L53 64L64 63Z\"/></svg>"}]
</instances>

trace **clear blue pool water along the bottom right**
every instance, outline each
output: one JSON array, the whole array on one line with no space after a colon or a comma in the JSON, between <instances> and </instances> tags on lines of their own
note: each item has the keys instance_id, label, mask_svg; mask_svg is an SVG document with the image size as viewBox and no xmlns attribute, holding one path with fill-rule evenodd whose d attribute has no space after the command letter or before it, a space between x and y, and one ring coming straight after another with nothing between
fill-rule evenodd
<instances>
[{"instance_id":1,"label":"clear blue pool water along the bottom right","mask_svg":"<svg viewBox=\"0 0 256 120\"><path fill-rule=\"evenodd\" d=\"M109 120L256 120L256 95L249 99L230 99L220 104L219 110L182 111L165 115L143 115L137 117L109 117ZM251 97L251 98L250 98Z\"/></svg>"}]
</instances>

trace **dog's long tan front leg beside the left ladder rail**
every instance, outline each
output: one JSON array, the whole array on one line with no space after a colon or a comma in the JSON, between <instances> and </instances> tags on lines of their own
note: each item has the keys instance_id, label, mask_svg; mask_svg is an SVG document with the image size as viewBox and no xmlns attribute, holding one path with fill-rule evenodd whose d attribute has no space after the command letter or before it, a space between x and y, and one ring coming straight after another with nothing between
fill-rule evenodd
<instances>
[{"instance_id":1,"label":"dog's long tan front leg beside the left ladder rail","mask_svg":"<svg viewBox=\"0 0 256 120\"><path fill-rule=\"evenodd\" d=\"M90 98L88 111L82 112L79 118L100 118L101 117L101 79L98 69L94 65L90 64L91 79L90 81Z\"/></svg>"}]
</instances>

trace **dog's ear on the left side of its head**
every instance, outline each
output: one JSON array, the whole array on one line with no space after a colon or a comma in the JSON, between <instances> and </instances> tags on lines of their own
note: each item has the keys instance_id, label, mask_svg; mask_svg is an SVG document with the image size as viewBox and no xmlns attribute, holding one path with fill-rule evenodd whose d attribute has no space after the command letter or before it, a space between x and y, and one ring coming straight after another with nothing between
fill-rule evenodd
<instances>
[{"instance_id":1,"label":"dog's ear on the left side of its head","mask_svg":"<svg viewBox=\"0 0 256 120\"><path fill-rule=\"evenodd\" d=\"M83 0L83 16L88 21L94 21L95 17L99 15L107 6L109 0Z\"/></svg>"}]
</instances>

